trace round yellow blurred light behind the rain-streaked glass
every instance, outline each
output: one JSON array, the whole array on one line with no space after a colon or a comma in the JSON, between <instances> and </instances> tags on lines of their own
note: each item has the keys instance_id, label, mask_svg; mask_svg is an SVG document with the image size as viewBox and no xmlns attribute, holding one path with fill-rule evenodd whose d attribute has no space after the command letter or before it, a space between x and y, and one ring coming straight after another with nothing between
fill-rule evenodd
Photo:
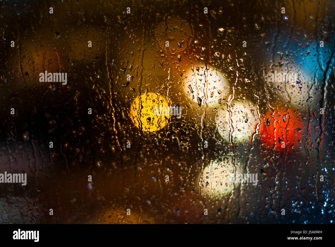
<instances>
[{"instance_id":1,"label":"round yellow blurred light behind the rain-streaked glass","mask_svg":"<svg viewBox=\"0 0 335 247\"><path fill-rule=\"evenodd\" d=\"M130 118L141 130L158 131L170 118L169 102L159 93L146 93L137 97L130 107Z\"/></svg>"}]
</instances>

